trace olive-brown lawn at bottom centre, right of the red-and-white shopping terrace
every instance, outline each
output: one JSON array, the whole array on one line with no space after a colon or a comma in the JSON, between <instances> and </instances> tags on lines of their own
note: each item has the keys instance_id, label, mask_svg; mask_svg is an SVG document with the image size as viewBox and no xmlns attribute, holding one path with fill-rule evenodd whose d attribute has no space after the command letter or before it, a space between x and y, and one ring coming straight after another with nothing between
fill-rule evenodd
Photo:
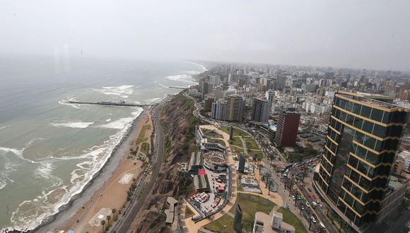
<instances>
[{"instance_id":1,"label":"olive-brown lawn at bottom centre, right of the red-and-white shopping terrace","mask_svg":"<svg viewBox=\"0 0 410 233\"><path fill-rule=\"evenodd\" d=\"M240 206L242 207L242 226L245 228L246 232L252 232L255 213L260 211L269 214L271 209L275 206L274 203L265 198L251 194L238 193L236 203L233 208L230 209L230 213L235 214L235 208L238 203L240 203ZM205 225L205 228L213 232L234 232L233 217L223 215L223 217L218 220Z\"/></svg>"}]
</instances>

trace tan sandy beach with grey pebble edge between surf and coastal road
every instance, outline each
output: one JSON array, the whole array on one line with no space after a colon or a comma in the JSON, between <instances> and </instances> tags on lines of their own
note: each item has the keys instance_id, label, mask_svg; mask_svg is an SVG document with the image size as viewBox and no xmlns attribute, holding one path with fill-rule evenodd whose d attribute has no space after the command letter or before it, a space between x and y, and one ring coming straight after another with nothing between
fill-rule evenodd
<instances>
[{"instance_id":1,"label":"tan sandy beach with grey pebble edge between surf and coastal road","mask_svg":"<svg viewBox=\"0 0 410 233\"><path fill-rule=\"evenodd\" d=\"M143 165L143 162L137 160L136 157L129 157L130 149L135 150L135 142L142 126L151 122L149 112L150 109L145 108L134 120L129 133L124 136L110 160L98 174L95 174L95 178L90 181L83 192L73 198L64 210L54 215L47 225L38 227L35 232L57 232L68 229L74 229L75 232L102 231L101 226L93 227L88 224L88 221L102 208L120 210L126 203L131 179L138 179ZM146 130L145 134L149 135L151 131L152 128ZM149 140L147 143L150 143Z\"/></svg>"}]
</instances>

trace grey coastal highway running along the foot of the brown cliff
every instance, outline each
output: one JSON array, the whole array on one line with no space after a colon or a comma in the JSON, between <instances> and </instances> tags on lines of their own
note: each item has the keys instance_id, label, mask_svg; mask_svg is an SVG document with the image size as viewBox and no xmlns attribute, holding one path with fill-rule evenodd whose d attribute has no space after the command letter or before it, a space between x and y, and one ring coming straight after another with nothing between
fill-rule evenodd
<instances>
[{"instance_id":1,"label":"grey coastal highway running along the foot of the brown cliff","mask_svg":"<svg viewBox=\"0 0 410 233\"><path fill-rule=\"evenodd\" d=\"M123 217L119 218L119 220L117 221L117 224L111 229L111 232L118 232L118 233L119 232L121 233L129 232L129 229L131 228L131 225L134 222L136 215L139 213L139 210L141 210L142 206L146 202L146 198L151 193L153 185L156 182L156 179L160 172L161 163L163 162L163 155L164 155L164 144L163 144L164 133L163 133L163 128L160 124L161 107L162 107L162 104L159 104L153 109L153 113L155 114L155 117L153 117L153 124L155 128L155 140L154 141L157 146L154 150L154 155L153 155L153 166L152 166L153 173L151 176L151 180L147 184L146 188L142 191L141 198L139 198L138 201L133 201L130 204L130 207L127 208L128 209L127 212L124 213ZM138 196L138 194L136 194L136 196Z\"/></svg>"}]
</instances>

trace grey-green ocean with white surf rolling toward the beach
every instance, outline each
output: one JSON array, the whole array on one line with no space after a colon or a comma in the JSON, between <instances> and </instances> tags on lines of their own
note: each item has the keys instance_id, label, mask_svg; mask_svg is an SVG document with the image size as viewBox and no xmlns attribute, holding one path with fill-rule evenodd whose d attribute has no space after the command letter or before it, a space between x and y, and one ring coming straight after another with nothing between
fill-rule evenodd
<instances>
[{"instance_id":1,"label":"grey-green ocean with white surf rolling toward the beach","mask_svg":"<svg viewBox=\"0 0 410 233\"><path fill-rule=\"evenodd\" d=\"M33 229L83 189L141 107L205 71L189 61L0 58L0 229Z\"/></svg>"}]
</instances>

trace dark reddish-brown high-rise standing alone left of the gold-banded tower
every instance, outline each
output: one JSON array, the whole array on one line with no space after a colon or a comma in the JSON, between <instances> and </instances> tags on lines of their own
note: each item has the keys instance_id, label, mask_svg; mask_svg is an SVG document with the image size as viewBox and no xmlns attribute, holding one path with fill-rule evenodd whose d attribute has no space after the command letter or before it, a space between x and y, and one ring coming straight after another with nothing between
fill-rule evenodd
<instances>
[{"instance_id":1,"label":"dark reddish-brown high-rise standing alone left of the gold-banded tower","mask_svg":"<svg viewBox=\"0 0 410 233\"><path fill-rule=\"evenodd\" d=\"M294 108L281 109L276 126L275 143L283 147L294 147L298 135L300 113Z\"/></svg>"}]
</instances>

